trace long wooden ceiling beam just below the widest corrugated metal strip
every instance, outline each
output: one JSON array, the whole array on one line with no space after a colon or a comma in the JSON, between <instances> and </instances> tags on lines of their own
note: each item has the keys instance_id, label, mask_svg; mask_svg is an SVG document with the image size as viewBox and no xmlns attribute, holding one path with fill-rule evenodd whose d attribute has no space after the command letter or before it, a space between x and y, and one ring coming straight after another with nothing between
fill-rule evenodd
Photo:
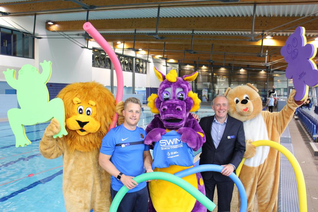
<instances>
[{"instance_id":1,"label":"long wooden ceiling beam just below the widest corrugated metal strip","mask_svg":"<svg viewBox=\"0 0 318 212\"><path fill-rule=\"evenodd\" d=\"M294 21L299 17L256 17L255 31L269 30L275 26ZM296 23L287 24L273 31L292 27L297 23L313 20L316 17L306 17ZM54 20L52 20L54 21ZM103 19L89 20L100 31L103 30L156 30L156 18ZM82 21L58 21L46 25L49 31L82 31ZM231 23L231 24L229 24ZM49 25L49 26L48 26ZM302 24L306 32L318 32L318 19ZM251 31L252 17L173 17L159 18L159 30L195 30L195 31ZM285 31L294 31L293 29Z\"/></svg>"}]
</instances>

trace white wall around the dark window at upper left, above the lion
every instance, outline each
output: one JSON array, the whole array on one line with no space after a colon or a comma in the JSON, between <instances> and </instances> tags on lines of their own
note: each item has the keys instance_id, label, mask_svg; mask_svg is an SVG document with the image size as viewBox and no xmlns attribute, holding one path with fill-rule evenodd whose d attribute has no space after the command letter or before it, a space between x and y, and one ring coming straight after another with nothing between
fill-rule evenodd
<instances>
[{"instance_id":1,"label":"white wall around the dark window at upper left, above the lion","mask_svg":"<svg viewBox=\"0 0 318 212\"><path fill-rule=\"evenodd\" d=\"M0 25L14 29L10 24L20 30L33 32L33 16L27 17L2 17ZM23 26L25 29L17 26ZM40 37L45 35L56 34L45 29L45 22L36 21L36 34ZM73 32L72 32L73 34ZM60 36L61 37L61 36ZM85 44L84 38L76 39ZM34 65L39 69L39 63L44 60L51 60L52 75L49 82L55 83L73 83L87 82L92 80L92 51L82 49L68 39L42 38L35 39L35 59L18 58L12 56L2 56L0 65L20 67L25 64ZM41 69L39 69L41 72Z\"/></svg>"}]
</instances>

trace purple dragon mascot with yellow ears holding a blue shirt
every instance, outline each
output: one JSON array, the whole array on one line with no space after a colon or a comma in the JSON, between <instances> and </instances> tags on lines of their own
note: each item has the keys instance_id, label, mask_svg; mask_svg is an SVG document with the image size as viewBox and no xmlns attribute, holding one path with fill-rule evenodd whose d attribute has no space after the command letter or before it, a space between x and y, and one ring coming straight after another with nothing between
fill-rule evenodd
<instances>
[{"instance_id":1,"label":"purple dragon mascot with yellow ears holding a blue shirt","mask_svg":"<svg viewBox=\"0 0 318 212\"><path fill-rule=\"evenodd\" d=\"M155 118L146 128L148 133L144 143L154 145L152 167L154 171L175 174L193 167L193 151L205 142L205 135L190 111L197 111L200 99L191 91L188 81L196 79L198 72L177 77L176 70L163 75L155 67L161 81L158 95L148 98L148 106ZM205 194L200 173L183 178ZM149 183L149 211L206 211L206 208L182 188L168 181L156 180Z\"/></svg>"}]
</instances>

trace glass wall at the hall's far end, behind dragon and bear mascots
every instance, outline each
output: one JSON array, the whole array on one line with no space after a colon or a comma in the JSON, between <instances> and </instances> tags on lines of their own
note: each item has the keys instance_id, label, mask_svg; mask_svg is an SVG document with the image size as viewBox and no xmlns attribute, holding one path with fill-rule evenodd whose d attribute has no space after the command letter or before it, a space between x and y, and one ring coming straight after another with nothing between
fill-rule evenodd
<instances>
[{"instance_id":1,"label":"glass wall at the hall's far end, behind dragon and bear mascots","mask_svg":"<svg viewBox=\"0 0 318 212\"><path fill-rule=\"evenodd\" d=\"M267 90L272 89L273 76L275 74L274 72L266 74L266 69L253 70L241 67L197 66L190 64L180 65L179 70L180 76L188 75L195 71L199 72L196 82L192 82L191 85L193 92L198 93L201 101L211 101L216 95L224 94L228 87L235 88L238 85L251 83L259 90L262 101L266 102ZM269 85L267 85L267 78ZM283 93L286 91L282 90Z\"/></svg>"}]
</instances>

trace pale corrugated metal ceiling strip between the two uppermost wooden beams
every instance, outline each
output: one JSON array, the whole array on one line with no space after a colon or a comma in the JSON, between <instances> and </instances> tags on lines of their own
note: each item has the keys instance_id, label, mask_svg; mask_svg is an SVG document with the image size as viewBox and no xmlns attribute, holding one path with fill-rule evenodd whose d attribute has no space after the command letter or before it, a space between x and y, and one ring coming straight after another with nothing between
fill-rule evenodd
<instances>
[{"instance_id":1,"label":"pale corrugated metal ceiling strip between the two uppermost wooden beams","mask_svg":"<svg viewBox=\"0 0 318 212\"><path fill-rule=\"evenodd\" d=\"M0 0L1 1L1 0ZM266 5L256 7L256 16L306 16L318 11L318 4ZM250 17L253 6L170 7L161 8L160 17ZM318 13L315 14L318 16ZM157 9L126 9L89 12L90 20L119 18L155 18ZM41 20L85 20L86 12L38 15Z\"/></svg>"}]
</instances>

